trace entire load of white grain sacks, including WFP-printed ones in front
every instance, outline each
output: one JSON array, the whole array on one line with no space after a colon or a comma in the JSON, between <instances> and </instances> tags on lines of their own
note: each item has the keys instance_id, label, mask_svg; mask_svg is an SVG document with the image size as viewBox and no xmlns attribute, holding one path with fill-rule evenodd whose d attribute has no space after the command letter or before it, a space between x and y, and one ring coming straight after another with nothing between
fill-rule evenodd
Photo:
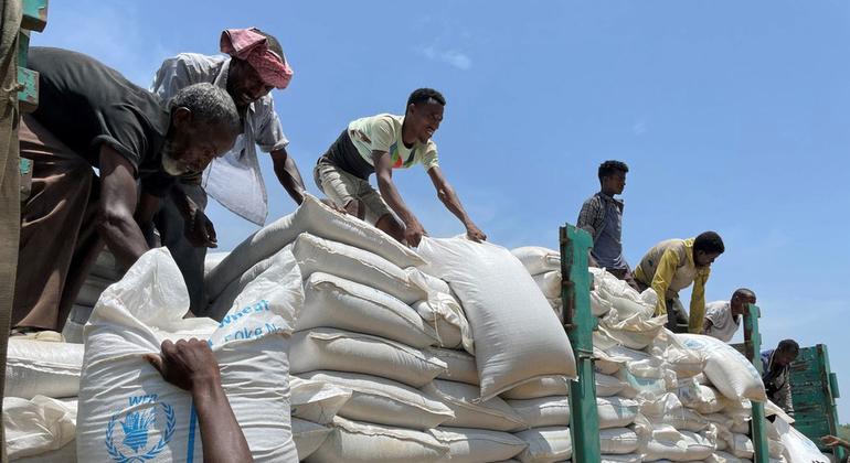
<instances>
[{"instance_id":1,"label":"entire load of white grain sacks, including WFP-printed ones in front","mask_svg":"<svg viewBox=\"0 0 850 463\"><path fill-rule=\"evenodd\" d=\"M141 357L162 340L200 337L256 461L572 457L576 366L557 320L557 252L465 237L425 237L414 251L308 197L208 263L210 317L182 319L185 287L157 249L99 295L85 352L13 340L10 456L201 459L187 394ZM673 335L652 316L652 290L591 271L602 461L751 461L748 400L765 397L746 359ZM246 386L262 397L238 395ZM773 461L815 459L786 421L768 424Z\"/></svg>"}]
</instances>

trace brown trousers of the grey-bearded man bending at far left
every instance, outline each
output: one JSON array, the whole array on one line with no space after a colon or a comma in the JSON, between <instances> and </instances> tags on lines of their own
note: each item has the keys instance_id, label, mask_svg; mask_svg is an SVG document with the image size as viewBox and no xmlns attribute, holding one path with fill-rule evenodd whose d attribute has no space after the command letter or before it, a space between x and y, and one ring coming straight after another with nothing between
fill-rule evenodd
<instances>
[{"instance_id":1,"label":"brown trousers of the grey-bearded man bending at far left","mask_svg":"<svg viewBox=\"0 0 850 463\"><path fill-rule=\"evenodd\" d=\"M30 117L21 119L19 138L21 157L33 161L33 174L30 197L21 207L12 326L59 331L64 323L60 303L94 171Z\"/></svg>"}]
</instances>

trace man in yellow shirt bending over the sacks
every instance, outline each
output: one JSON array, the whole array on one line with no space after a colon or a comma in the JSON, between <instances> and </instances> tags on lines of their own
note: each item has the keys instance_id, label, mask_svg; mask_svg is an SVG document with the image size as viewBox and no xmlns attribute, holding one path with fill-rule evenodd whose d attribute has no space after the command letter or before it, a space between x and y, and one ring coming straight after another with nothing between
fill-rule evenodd
<instances>
[{"instance_id":1,"label":"man in yellow shirt bending over the sacks","mask_svg":"<svg viewBox=\"0 0 850 463\"><path fill-rule=\"evenodd\" d=\"M705 282L711 265L723 251L723 239L714 232L695 238L661 241L640 260L635 280L640 290L652 288L658 294L656 315L667 314L667 327L673 332L699 334L705 316ZM693 283L690 316L684 312L679 291Z\"/></svg>"}]
</instances>

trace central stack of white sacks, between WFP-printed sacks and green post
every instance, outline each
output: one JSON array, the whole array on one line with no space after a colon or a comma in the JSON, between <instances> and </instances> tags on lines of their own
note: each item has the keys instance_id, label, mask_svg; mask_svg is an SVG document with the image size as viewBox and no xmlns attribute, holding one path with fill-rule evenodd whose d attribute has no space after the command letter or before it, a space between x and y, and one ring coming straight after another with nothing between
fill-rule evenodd
<instances>
[{"instance_id":1,"label":"central stack of white sacks, between WFP-printed sacks and green post","mask_svg":"<svg viewBox=\"0 0 850 463\"><path fill-rule=\"evenodd\" d=\"M454 238L426 239L414 252L312 198L210 271L211 315L280 249L304 278L289 357L294 426L329 430L315 450L299 448L301 460L509 460L533 438L523 439L529 424L499 394L575 375L563 330L507 249ZM305 412L295 403L305 385L349 396ZM566 423L551 461L570 456Z\"/></svg>"}]
</instances>

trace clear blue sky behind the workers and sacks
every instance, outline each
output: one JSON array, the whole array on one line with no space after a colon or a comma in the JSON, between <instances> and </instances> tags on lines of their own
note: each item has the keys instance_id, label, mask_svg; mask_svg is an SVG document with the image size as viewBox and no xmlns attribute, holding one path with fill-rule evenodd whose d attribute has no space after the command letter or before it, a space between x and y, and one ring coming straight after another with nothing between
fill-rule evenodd
<instances>
[{"instance_id":1,"label":"clear blue sky behind the workers and sacks","mask_svg":"<svg viewBox=\"0 0 850 463\"><path fill-rule=\"evenodd\" d=\"M442 90L443 170L507 247L556 247L598 163L626 161L629 262L719 232L708 299L754 289L765 343L827 344L850 397L850 3L75 0L49 18L34 44L146 87L170 55L216 53L224 28L275 34L295 69L276 107L312 193L312 165L349 120ZM274 219L294 204L263 162ZM394 177L432 235L463 232L421 169ZM225 250L256 228L216 205L210 216Z\"/></svg>"}]
</instances>

